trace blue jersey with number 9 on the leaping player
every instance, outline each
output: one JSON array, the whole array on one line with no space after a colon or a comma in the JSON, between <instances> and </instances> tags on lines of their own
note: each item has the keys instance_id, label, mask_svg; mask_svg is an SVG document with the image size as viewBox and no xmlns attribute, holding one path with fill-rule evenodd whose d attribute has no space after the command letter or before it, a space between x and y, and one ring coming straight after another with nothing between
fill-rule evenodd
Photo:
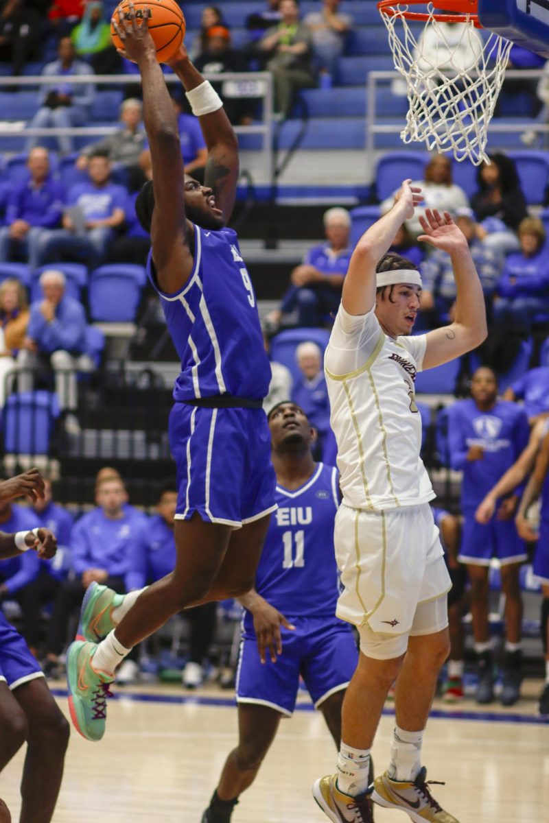
<instances>
[{"instance_id":1,"label":"blue jersey with number 9 on the leaping player","mask_svg":"<svg viewBox=\"0 0 549 823\"><path fill-rule=\"evenodd\" d=\"M230 394L263 399L271 366L263 346L254 288L232 229L194 227L194 265L184 288L160 291L151 253L147 274L161 296L181 358L174 400Z\"/></svg>"}]
</instances>

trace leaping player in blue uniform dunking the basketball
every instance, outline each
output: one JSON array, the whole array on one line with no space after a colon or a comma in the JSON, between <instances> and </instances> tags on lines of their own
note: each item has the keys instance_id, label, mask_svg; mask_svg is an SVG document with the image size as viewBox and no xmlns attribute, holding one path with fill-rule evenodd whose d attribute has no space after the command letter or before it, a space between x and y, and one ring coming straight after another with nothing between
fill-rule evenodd
<instances>
[{"instance_id":1,"label":"leaping player in blue uniform dunking the basketball","mask_svg":"<svg viewBox=\"0 0 549 823\"><path fill-rule=\"evenodd\" d=\"M89 740L105 732L105 686L135 644L185 607L249 592L276 508L262 408L271 369L238 239L224 228L239 175L235 133L182 46L170 66L208 150L205 184L185 175L174 107L147 21L137 26L130 3L117 31L142 76L153 182L138 195L136 211L151 233L147 271L181 358L170 416L179 486L177 557L174 571L143 592L123 597L92 585L86 593L81 639L67 654L67 681L72 720ZM91 642L102 637L100 644Z\"/></svg>"}]
</instances>

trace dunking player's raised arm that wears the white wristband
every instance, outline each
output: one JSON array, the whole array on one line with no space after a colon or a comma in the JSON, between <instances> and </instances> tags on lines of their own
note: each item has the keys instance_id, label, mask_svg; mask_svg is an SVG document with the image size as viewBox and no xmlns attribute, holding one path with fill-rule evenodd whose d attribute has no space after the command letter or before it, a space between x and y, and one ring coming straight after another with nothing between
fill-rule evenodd
<instances>
[{"instance_id":1,"label":"dunking player's raised arm that wears the white wristband","mask_svg":"<svg viewBox=\"0 0 549 823\"><path fill-rule=\"evenodd\" d=\"M205 82L198 68L188 59L184 46L170 60L170 67L183 83L185 91L193 91ZM212 188L216 207L221 208L223 220L227 222L235 206L239 178L238 140L222 107L211 114L198 114L198 122L207 146L204 184Z\"/></svg>"}]
</instances>

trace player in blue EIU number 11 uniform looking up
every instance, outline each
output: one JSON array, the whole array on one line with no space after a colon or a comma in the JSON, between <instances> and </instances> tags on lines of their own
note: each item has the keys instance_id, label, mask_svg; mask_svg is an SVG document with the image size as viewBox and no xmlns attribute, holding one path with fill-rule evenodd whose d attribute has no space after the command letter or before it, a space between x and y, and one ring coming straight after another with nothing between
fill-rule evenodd
<instances>
[{"instance_id":1,"label":"player in blue EIU number 11 uniform looking up","mask_svg":"<svg viewBox=\"0 0 549 823\"><path fill-rule=\"evenodd\" d=\"M314 463L305 412L281 402L268 415L277 472L277 514L269 526L246 608L236 678L239 742L230 752L202 823L229 823L254 782L283 717L295 709L300 675L336 746L342 702L358 652L335 617L339 585L333 525L337 469Z\"/></svg>"}]
</instances>

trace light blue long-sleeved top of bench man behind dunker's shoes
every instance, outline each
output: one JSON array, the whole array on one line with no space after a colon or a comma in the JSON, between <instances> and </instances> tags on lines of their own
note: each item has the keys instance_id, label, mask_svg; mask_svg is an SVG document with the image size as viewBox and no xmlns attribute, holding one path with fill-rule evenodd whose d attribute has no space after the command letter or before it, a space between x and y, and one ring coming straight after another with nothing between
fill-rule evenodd
<instances>
[{"instance_id":1,"label":"light blue long-sleeved top of bench man behind dunker's shoes","mask_svg":"<svg viewBox=\"0 0 549 823\"><path fill-rule=\"evenodd\" d=\"M145 516L137 509L123 509L121 518L106 517L103 509L84 514L72 529L72 565L77 575L103 569L111 577L128 573L130 551Z\"/></svg>"}]
</instances>

